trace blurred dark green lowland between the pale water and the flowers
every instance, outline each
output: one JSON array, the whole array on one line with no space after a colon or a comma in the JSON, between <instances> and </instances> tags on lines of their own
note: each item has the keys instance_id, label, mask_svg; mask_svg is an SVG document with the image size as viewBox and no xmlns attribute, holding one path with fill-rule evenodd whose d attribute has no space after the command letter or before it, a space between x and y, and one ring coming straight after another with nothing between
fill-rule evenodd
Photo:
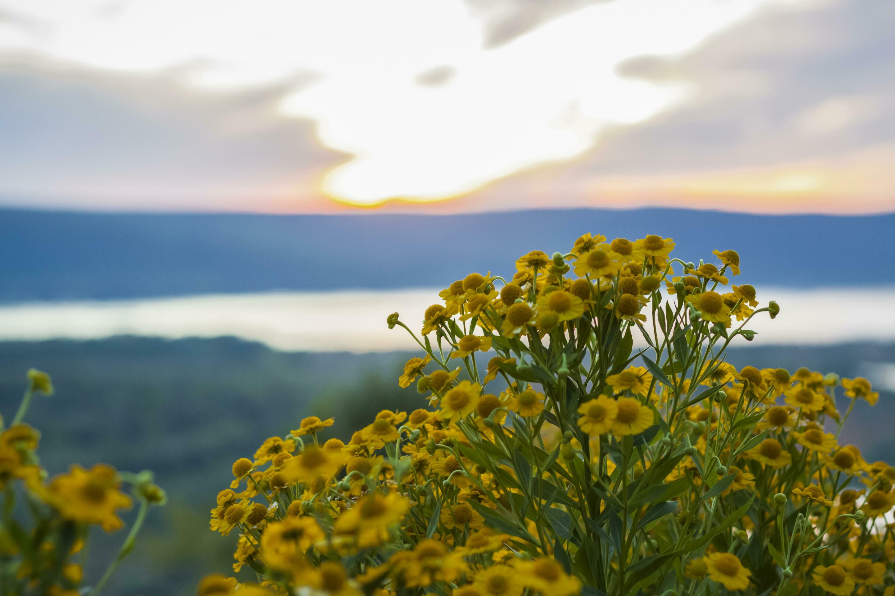
<instances>
[{"instance_id":1,"label":"blurred dark green lowland between the pale water and the flowers","mask_svg":"<svg viewBox=\"0 0 895 596\"><path fill-rule=\"evenodd\" d=\"M328 436L346 440L381 409L421 407L413 387L397 387L408 356L279 353L227 337L0 343L0 413L14 412L26 370L47 370L56 395L36 400L27 421L43 433L40 454L50 473L72 462L154 470L169 505L152 512L107 593L192 594L201 575L230 572L235 537L210 532L208 521L234 460L311 413L334 416ZM750 346L731 350L730 362L866 375L895 362L895 345ZM871 461L895 459L893 398L883 391L875 408L858 404L843 433ZM92 561L105 566L122 540L100 533ZM88 570L90 577L100 572Z\"/></svg>"}]
</instances>

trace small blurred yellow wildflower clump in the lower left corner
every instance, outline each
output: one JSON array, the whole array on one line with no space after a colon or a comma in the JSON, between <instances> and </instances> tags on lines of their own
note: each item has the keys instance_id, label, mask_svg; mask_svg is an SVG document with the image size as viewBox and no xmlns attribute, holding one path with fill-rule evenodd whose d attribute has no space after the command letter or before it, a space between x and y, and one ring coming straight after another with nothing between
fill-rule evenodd
<instances>
[{"instance_id":1,"label":"small blurred yellow wildflower clump in the lower left corner","mask_svg":"<svg viewBox=\"0 0 895 596\"><path fill-rule=\"evenodd\" d=\"M152 483L149 472L118 473L105 464L90 470L74 464L68 473L48 478L38 462L40 433L22 420L34 396L53 395L53 383L46 372L33 369L28 380L8 427L0 416L0 594L92 596L130 553L149 507L164 505L165 492ZM132 498L122 492L124 481L141 501L140 512L106 573L92 587L83 585L83 569L71 558L86 551L92 526L106 532L122 528L118 512L132 507ZM16 507L17 498L28 507Z\"/></svg>"}]
</instances>

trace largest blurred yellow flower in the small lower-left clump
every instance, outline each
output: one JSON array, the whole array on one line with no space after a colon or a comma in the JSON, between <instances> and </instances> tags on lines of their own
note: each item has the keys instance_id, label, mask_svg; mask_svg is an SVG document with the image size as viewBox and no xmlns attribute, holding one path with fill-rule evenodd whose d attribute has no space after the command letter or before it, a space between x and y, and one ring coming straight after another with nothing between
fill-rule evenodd
<instances>
[{"instance_id":1,"label":"largest blurred yellow flower in the small lower-left clump","mask_svg":"<svg viewBox=\"0 0 895 596\"><path fill-rule=\"evenodd\" d=\"M99 524L106 532L114 532L124 525L115 514L132 504L131 498L121 491L115 468L106 464L96 464L90 470L72 465L68 473L55 476L42 492L65 519Z\"/></svg>"}]
</instances>

